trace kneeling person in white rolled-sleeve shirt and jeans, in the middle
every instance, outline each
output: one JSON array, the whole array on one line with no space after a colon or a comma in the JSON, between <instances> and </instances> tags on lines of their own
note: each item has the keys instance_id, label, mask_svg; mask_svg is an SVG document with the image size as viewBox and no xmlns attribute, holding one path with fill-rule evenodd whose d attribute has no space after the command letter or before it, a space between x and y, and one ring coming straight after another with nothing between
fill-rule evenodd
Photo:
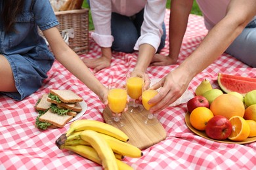
<instances>
[{"instance_id":1,"label":"kneeling person in white rolled-sleeve shirt and jeans, in the middle","mask_svg":"<svg viewBox=\"0 0 256 170\"><path fill-rule=\"evenodd\" d=\"M95 26L92 37L102 54L84 59L87 67L96 73L110 66L112 50L139 50L135 70L145 72L154 54L165 46L166 0L93 0L89 5Z\"/></svg>"}]
</instances>

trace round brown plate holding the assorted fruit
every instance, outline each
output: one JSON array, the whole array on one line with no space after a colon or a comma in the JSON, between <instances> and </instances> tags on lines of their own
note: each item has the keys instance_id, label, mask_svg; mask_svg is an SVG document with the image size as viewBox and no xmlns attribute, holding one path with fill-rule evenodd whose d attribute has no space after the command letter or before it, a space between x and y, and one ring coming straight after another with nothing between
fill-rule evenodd
<instances>
[{"instance_id":1,"label":"round brown plate holding the assorted fruit","mask_svg":"<svg viewBox=\"0 0 256 170\"><path fill-rule=\"evenodd\" d=\"M247 143L253 143L256 141L256 137L248 137L247 139L245 139L244 141L240 141L240 142L236 142L236 141L231 141L229 139L226 139L226 140L223 140L223 141L220 141L220 140L215 140L215 139L211 139L209 137L207 137L205 131L199 131L198 129L195 129L191 124L190 124L190 120L189 120L189 113L186 112L186 115L185 115L185 123L186 123L186 126L188 126L188 128L196 133L196 135L199 135L200 137L204 137L205 139L209 139L211 141L216 141L216 142L219 142L219 143L236 143L236 144L247 144Z\"/></svg>"}]
</instances>

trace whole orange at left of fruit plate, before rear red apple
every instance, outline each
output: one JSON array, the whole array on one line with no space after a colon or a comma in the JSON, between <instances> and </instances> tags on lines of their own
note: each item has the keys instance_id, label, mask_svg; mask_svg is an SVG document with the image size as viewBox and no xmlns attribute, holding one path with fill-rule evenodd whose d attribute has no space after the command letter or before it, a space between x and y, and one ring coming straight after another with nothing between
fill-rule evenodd
<instances>
[{"instance_id":1,"label":"whole orange at left of fruit plate, before rear red apple","mask_svg":"<svg viewBox=\"0 0 256 170\"><path fill-rule=\"evenodd\" d=\"M207 107L197 107L189 116L190 124L200 131L205 130L207 122L213 118L213 112Z\"/></svg>"}]
</instances>

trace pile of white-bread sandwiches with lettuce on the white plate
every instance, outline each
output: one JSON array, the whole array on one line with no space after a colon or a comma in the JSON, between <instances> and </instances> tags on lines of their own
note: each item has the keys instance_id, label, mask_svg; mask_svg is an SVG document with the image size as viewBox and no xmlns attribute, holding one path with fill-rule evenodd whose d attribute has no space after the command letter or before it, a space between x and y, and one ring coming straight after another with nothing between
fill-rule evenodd
<instances>
[{"instance_id":1,"label":"pile of white-bread sandwiches with lettuce on the white plate","mask_svg":"<svg viewBox=\"0 0 256 170\"><path fill-rule=\"evenodd\" d=\"M64 127L77 112L81 112L81 101L83 99L71 90L50 90L35 105L35 110L39 113L35 127L43 130Z\"/></svg>"}]
</instances>

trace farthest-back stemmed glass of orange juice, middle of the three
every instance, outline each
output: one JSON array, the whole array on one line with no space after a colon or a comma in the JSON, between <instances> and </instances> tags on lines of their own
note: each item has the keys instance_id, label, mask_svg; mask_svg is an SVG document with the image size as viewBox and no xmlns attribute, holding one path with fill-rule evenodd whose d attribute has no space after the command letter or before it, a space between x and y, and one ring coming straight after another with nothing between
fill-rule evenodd
<instances>
[{"instance_id":1,"label":"farthest-back stemmed glass of orange juice, middle of the three","mask_svg":"<svg viewBox=\"0 0 256 170\"><path fill-rule=\"evenodd\" d=\"M129 72L126 74L126 86L127 93L131 97L131 101L128 105L128 111L132 113L139 113L144 110L143 106L135 101L139 99L142 94L142 86L144 85L144 73L136 71L132 74Z\"/></svg>"}]
</instances>

